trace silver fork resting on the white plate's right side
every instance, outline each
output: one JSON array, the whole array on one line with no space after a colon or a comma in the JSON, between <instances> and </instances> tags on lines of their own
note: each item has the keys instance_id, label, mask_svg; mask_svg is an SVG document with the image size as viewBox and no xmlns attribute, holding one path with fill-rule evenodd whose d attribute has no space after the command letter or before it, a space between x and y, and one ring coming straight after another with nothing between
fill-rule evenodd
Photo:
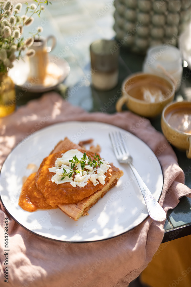
<instances>
[{"instance_id":1,"label":"silver fork resting on the white plate's right side","mask_svg":"<svg viewBox=\"0 0 191 287\"><path fill-rule=\"evenodd\" d=\"M109 137L115 152L115 156L120 163L129 164L133 174L137 179L137 183L141 189L142 195L144 197L147 210L152 219L156 221L163 221L166 219L166 212L160 206L160 204L153 197L148 187L142 180L141 176L137 172L136 168L133 166L133 158L129 154L129 150L125 144L125 140L123 139L121 132L112 132L109 133Z\"/></svg>"}]
</instances>

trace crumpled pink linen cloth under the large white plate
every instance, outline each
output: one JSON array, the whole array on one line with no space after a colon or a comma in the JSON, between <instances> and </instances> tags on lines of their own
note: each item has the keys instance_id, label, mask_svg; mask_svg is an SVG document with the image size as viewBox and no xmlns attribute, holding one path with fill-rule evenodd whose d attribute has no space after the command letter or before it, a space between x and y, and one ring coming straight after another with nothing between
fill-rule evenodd
<instances>
[{"instance_id":1,"label":"crumpled pink linen cloth under the large white plate","mask_svg":"<svg viewBox=\"0 0 191 287\"><path fill-rule=\"evenodd\" d=\"M167 212L191 190L164 136L149 120L131 112L113 115L87 113L50 93L30 101L12 115L0 119L0 166L11 150L34 131L64 121L99 121L134 133L156 154L164 173L160 204ZM155 158L153 158L155 160ZM164 223L148 217L133 230L106 241L62 243L41 238L17 224L0 210L0 285L14 287L127 287L157 251ZM9 218L9 285L5 273L4 219Z\"/></svg>"}]
</instances>

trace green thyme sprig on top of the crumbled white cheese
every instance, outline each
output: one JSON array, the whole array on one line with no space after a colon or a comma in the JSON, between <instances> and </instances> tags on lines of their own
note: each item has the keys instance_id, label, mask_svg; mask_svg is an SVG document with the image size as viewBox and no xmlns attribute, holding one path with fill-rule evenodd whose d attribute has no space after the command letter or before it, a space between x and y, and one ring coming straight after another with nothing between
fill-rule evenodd
<instances>
[{"instance_id":1,"label":"green thyme sprig on top of the crumbled white cheese","mask_svg":"<svg viewBox=\"0 0 191 287\"><path fill-rule=\"evenodd\" d=\"M69 170L69 172L67 172L63 168L63 172L62 172L63 177L61 178L61 180L64 179L65 177L69 177L69 178L72 177L72 175L74 173L77 174L77 173L84 172L84 171L86 173L88 173L88 170L84 170L86 168L86 164L93 166L93 168L94 168L96 166L100 166L100 164L103 163L103 162L101 162L101 160L102 160L102 158L100 159L98 154L97 155L95 154L93 160L91 160L90 156L88 156L88 159L87 159L85 152L84 152L84 154L80 160L75 155L75 156L73 156L73 158L71 160L69 160L69 162L71 162L71 164L70 164L71 169ZM77 168L74 169L76 164L80 164L82 170L78 170Z\"/></svg>"}]
</instances>

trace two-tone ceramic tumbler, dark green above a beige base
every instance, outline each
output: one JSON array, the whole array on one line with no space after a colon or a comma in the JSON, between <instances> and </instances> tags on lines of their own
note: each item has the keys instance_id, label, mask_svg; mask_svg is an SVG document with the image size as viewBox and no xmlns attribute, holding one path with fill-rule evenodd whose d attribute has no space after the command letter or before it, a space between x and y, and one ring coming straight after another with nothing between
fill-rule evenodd
<instances>
[{"instance_id":1,"label":"two-tone ceramic tumbler, dark green above a beige base","mask_svg":"<svg viewBox=\"0 0 191 287\"><path fill-rule=\"evenodd\" d=\"M90 45L92 85L98 90L111 90L118 83L119 48L115 40L97 40Z\"/></svg>"}]
</instances>

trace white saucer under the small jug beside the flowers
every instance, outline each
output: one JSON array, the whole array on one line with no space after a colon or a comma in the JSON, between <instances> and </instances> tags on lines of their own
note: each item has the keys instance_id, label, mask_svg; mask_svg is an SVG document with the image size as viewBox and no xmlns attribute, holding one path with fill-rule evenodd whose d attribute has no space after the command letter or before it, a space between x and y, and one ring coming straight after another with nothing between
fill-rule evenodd
<instances>
[{"instance_id":1,"label":"white saucer under the small jug beside the flowers","mask_svg":"<svg viewBox=\"0 0 191 287\"><path fill-rule=\"evenodd\" d=\"M58 84L62 83L70 73L70 66L64 59L56 60L55 57L49 55L48 71L51 75L47 75L46 83L44 85L36 84L35 79L29 82L29 61L26 59L19 59L14 62L14 67L9 70L8 75L11 77L16 86L26 88L29 92L46 92L53 90Z\"/></svg>"}]
</instances>

